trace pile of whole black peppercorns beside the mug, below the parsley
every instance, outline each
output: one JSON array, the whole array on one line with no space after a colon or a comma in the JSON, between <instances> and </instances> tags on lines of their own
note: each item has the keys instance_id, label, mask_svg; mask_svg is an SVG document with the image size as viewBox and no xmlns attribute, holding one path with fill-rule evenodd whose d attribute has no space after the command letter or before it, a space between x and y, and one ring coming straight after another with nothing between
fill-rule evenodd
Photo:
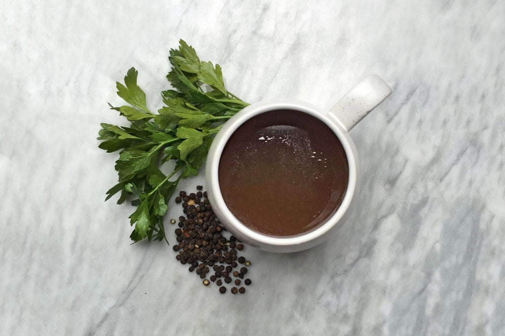
<instances>
[{"instance_id":1,"label":"pile of whole black peppercorns beside the mug, below the parsley","mask_svg":"<svg viewBox=\"0 0 505 336\"><path fill-rule=\"evenodd\" d=\"M245 266L250 266L251 263L243 256L237 256L237 251L242 251L244 246L234 236L228 239L223 236L226 229L214 214L207 192L201 191L202 186L196 186L196 189L196 193L190 194L181 191L175 198L176 203L182 202L183 212L186 215L179 217L179 228L175 229L177 245L174 245L173 250L179 252L175 258L183 265L190 264L188 270L195 271L201 279L204 279L205 286L215 282L219 287L219 293L224 294L226 287L223 286L223 281L230 284L233 276L235 277L233 283L238 287L247 273L247 267L233 271L238 267L238 263ZM175 223L175 220L171 222ZM214 274L209 276L210 281L207 279L209 267L214 271ZM251 281L247 278L243 283L249 286ZM232 294L237 292L244 294L245 288L231 288Z\"/></svg>"}]
</instances>

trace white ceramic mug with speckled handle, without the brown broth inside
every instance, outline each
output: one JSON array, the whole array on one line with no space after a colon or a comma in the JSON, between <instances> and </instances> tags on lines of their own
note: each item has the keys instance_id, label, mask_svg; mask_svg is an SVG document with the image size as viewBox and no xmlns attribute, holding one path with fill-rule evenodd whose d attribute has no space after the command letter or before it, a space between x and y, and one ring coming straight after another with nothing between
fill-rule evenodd
<instances>
[{"instance_id":1,"label":"white ceramic mug with speckled handle, without the brown broth inside","mask_svg":"<svg viewBox=\"0 0 505 336\"><path fill-rule=\"evenodd\" d=\"M268 100L251 104L230 118L212 142L205 169L210 204L226 229L239 240L271 252L301 251L330 238L349 216L360 187L357 150L348 131L390 94L391 88L384 80L377 75L369 75L347 92L329 111L299 100ZM349 167L347 189L336 212L317 229L294 237L267 236L245 226L226 206L219 186L219 162L230 136L252 117L279 109L302 111L324 122L340 140Z\"/></svg>"}]
</instances>

